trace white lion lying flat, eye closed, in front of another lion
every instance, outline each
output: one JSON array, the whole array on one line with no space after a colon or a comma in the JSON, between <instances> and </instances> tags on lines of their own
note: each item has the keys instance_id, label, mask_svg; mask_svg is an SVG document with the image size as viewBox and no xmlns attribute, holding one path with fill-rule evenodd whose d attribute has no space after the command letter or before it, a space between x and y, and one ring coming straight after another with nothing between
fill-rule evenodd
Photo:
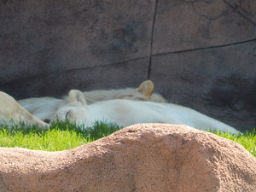
<instances>
[{"instance_id":1,"label":"white lion lying flat, eye closed, in front of another lion","mask_svg":"<svg viewBox=\"0 0 256 192\"><path fill-rule=\"evenodd\" d=\"M54 119L70 119L87 126L93 125L96 121L112 122L120 126L137 123L168 123L189 125L200 130L238 133L233 127L216 119L172 103L115 99L87 105L84 94L79 90L69 91L68 103L57 110Z\"/></svg>"}]
</instances>

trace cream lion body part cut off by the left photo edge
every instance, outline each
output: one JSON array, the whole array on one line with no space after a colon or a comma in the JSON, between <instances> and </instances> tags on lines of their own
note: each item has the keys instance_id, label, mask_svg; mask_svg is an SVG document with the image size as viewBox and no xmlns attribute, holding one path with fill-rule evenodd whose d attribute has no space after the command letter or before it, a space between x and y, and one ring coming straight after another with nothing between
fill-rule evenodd
<instances>
[{"instance_id":1,"label":"cream lion body part cut off by the left photo edge","mask_svg":"<svg viewBox=\"0 0 256 192\"><path fill-rule=\"evenodd\" d=\"M12 96L9 96L3 91L0 91L0 123L24 123L25 125L38 125L39 128L49 127L44 121L28 113Z\"/></svg>"}]
</instances>

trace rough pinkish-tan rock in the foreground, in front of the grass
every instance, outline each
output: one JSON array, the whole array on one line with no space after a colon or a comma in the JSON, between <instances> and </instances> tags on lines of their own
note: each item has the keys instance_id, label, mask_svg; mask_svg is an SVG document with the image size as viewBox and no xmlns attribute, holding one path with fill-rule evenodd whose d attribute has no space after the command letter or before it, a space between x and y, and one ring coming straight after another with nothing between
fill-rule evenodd
<instances>
[{"instance_id":1,"label":"rough pinkish-tan rock in the foreground, in front of the grass","mask_svg":"<svg viewBox=\"0 0 256 192\"><path fill-rule=\"evenodd\" d=\"M0 148L0 191L255 191L241 145L183 125L132 125L61 152Z\"/></svg>"}]
</instances>

